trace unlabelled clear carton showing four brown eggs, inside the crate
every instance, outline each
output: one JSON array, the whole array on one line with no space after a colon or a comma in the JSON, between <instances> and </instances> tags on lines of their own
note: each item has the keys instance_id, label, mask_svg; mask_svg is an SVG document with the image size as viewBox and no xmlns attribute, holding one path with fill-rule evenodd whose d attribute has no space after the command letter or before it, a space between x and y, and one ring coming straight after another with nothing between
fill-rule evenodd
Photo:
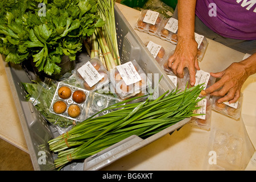
<instances>
[{"instance_id":1,"label":"unlabelled clear carton showing four brown eggs, inside the crate","mask_svg":"<svg viewBox=\"0 0 256 182\"><path fill-rule=\"evenodd\" d=\"M88 104L88 96L89 91L85 89L59 82L49 111L81 122L86 118L85 107Z\"/></svg>"}]
</instances>

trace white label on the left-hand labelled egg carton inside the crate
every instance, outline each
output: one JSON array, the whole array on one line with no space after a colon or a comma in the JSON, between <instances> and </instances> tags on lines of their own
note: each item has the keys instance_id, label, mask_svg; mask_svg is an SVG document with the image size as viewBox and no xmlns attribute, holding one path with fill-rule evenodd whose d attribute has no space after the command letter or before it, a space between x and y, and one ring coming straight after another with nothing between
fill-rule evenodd
<instances>
[{"instance_id":1,"label":"white label on the left-hand labelled egg carton inside the crate","mask_svg":"<svg viewBox=\"0 0 256 182\"><path fill-rule=\"evenodd\" d=\"M97 84L97 82L99 82L104 77L98 73L90 61L77 69L77 72L79 72L79 74L82 76L82 78L84 78L90 87Z\"/></svg>"}]
</instances>

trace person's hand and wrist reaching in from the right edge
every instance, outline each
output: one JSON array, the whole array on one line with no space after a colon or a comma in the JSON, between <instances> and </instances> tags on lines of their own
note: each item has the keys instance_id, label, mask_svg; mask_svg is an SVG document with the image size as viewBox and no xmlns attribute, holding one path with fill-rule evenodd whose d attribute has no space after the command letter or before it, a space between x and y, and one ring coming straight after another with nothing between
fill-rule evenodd
<instances>
[{"instance_id":1,"label":"person's hand and wrist reaching in from the right edge","mask_svg":"<svg viewBox=\"0 0 256 182\"><path fill-rule=\"evenodd\" d=\"M210 73L213 77L221 79L205 91L212 96L221 96L219 103L236 102L241 95L243 83L254 73L256 73L256 53L239 63L232 63L222 72Z\"/></svg>"}]
</instances>

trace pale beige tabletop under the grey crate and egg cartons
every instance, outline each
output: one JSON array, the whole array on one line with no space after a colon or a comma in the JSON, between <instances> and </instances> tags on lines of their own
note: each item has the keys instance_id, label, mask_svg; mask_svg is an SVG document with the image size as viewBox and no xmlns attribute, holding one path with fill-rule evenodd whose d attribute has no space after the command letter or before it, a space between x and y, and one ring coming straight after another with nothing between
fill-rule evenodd
<instances>
[{"instance_id":1,"label":"pale beige tabletop under the grey crate and egg cartons","mask_svg":"<svg viewBox=\"0 0 256 182\"><path fill-rule=\"evenodd\" d=\"M117 3L131 27L139 17L139 11ZM156 36L135 30L142 42L155 42L164 49L175 49L175 46ZM244 53L235 51L220 43L208 40L209 45L200 62L200 68L206 72L219 72L232 62L241 61ZM2 58L0 58L2 59ZM0 137L14 146L28 152L19 116L15 108L9 81L5 72L5 64L0 60ZM242 88L242 116L239 120L225 117L212 111L209 131L197 129L186 124L179 131L148 144L105 167L103 170L203 170L209 167L209 151L211 134L215 130L237 135L243 140L243 161L241 169L245 169L255 152L256 144L256 76L250 76Z\"/></svg>"}]
</instances>

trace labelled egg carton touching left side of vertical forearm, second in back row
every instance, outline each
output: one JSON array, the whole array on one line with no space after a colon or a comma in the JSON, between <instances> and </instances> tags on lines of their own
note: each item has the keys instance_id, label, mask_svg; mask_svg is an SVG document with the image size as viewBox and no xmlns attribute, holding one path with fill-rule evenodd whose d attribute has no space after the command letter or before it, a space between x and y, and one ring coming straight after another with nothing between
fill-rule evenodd
<instances>
[{"instance_id":1,"label":"labelled egg carton touching left side of vertical forearm, second in back row","mask_svg":"<svg viewBox=\"0 0 256 182\"><path fill-rule=\"evenodd\" d=\"M160 39L177 44L178 21L175 18L164 18L158 28L157 35Z\"/></svg>"}]
</instances>

